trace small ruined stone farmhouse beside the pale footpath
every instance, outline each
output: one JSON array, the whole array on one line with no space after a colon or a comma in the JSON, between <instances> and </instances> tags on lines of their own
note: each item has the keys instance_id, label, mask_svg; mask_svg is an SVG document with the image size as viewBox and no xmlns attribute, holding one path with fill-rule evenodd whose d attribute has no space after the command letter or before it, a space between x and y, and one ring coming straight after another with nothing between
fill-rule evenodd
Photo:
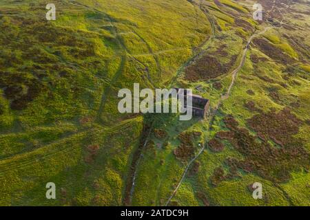
<instances>
[{"instance_id":1,"label":"small ruined stone farmhouse beside the pale footpath","mask_svg":"<svg viewBox=\"0 0 310 220\"><path fill-rule=\"evenodd\" d=\"M180 94L179 88L174 88ZM186 96L187 90L184 89L185 107L187 107ZM206 118L209 113L210 100L203 98L202 96L192 94L192 111L193 115L200 118Z\"/></svg>"}]
</instances>

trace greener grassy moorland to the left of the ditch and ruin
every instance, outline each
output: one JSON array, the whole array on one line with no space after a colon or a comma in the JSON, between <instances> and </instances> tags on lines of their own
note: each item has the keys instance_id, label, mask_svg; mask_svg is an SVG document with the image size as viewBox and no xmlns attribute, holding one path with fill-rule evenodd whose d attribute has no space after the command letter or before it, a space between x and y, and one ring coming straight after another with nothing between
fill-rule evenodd
<instances>
[{"instance_id":1,"label":"greener grassy moorland to the left of the ditch and ruin","mask_svg":"<svg viewBox=\"0 0 310 220\"><path fill-rule=\"evenodd\" d=\"M119 206L143 118L118 89L169 82L210 24L186 1L53 3L0 3L0 203Z\"/></svg>"}]
</instances>

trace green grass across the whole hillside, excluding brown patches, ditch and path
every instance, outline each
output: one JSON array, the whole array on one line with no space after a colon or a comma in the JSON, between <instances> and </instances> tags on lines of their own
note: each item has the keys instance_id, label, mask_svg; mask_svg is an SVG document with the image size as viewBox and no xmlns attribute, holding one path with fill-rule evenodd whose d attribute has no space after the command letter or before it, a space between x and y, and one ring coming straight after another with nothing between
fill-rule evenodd
<instances>
[{"instance_id":1,"label":"green grass across the whole hillside, excluding brown patches, ditch and path","mask_svg":"<svg viewBox=\"0 0 310 220\"><path fill-rule=\"evenodd\" d=\"M54 1L56 21L44 21L45 1L1 1L0 9L0 205L2 206L121 206L132 157L143 129L143 115L118 112L118 89L142 87L194 88L195 94L211 100L213 109L231 83L231 71L240 62L249 32L236 27L236 11L240 19L262 30L251 19L251 13L237 1L220 0L218 7L206 1L208 17L197 5L179 0L101 0ZM232 10L231 10L232 9ZM234 14L229 13L234 11ZM8 13L12 12L12 13ZM305 16L305 15L304 15ZM214 38L209 18L215 20ZM306 16L305 16L306 17ZM239 18L239 17L238 17ZM304 21L308 21L306 17ZM294 20L300 25L302 21ZM236 34L238 32L241 37ZM300 48L284 41L283 32L270 30L264 36L283 52L295 58L292 76L285 80L289 64L272 59L258 64L251 54L267 57L251 45L245 65L240 69L229 99L223 102L209 130L209 120L180 122L178 117L158 115L156 126L165 129L165 140L151 135L154 148L145 148L137 166L132 205L163 206L172 195L187 166L174 156L180 144L178 134L200 131L194 140L207 144L217 131L223 131L223 116L234 115L240 126L257 112L245 108L252 100L263 112L281 110L300 100L292 112L302 120L296 134L310 152L309 145L309 62ZM307 29L295 34L307 40ZM245 38L245 39L242 39ZM207 40L209 39L209 40ZM204 54L215 54L221 45L227 55L216 56L221 64L238 56L227 73L218 78L189 83L183 69L196 47ZM303 59L302 59L303 58ZM298 61L300 59L300 61ZM291 64L290 64L291 65ZM297 67L299 65L299 67ZM260 76L260 77L258 77ZM262 80L273 79L273 83ZM216 89L218 81L222 89ZM34 82L34 83L33 83ZM283 84L287 87L283 87ZM2 86L5 85L5 86ZM8 85L22 86L24 91L39 87L33 100L21 110L13 110L7 98ZM255 94L250 96L247 90ZM280 102L269 96L276 89ZM174 115L176 116L176 115ZM165 144L158 148L156 144ZM197 192L206 195L214 206L308 206L304 170L291 173L288 182L276 186L255 173L240 173L239 178L211 186L209 178L227 157L243 156L231 144L213 153L207 147L198 157L199 171L185 177L172 199L180 206L202 206ZM87 146L98 145L96 156L87 162ZM86 159L86 160L85 160ZM227 173L227 167L224 166ZM56 184L56 200L45 198L45 184ZM260 181L267 200L255 200L247 189ZM63 191L63 192L61 192ZM64 193L65 192L65 193ZM289 197L289 198L287 198ZM290 203L291 202L291 203Z\"/></svg>"}]
</instances>

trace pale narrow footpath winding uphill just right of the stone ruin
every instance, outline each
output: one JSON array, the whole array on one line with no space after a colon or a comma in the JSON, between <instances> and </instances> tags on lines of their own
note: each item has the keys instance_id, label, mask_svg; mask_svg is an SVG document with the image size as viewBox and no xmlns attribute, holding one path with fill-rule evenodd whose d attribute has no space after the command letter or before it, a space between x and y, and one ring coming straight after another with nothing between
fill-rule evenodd
<instances>
[{"instance_id":1,"label":"pale narrow footpath winding uphill just right of the stone ruin","mask_svg":"<svg viewBox=\"0 0 310 220\"><path fill-rule=\"evenodd\" d=\"M246 59L246 56L247 56L247 50L249 50L249 45L251 44L251 41L258 35L260 34L264 34L265 32L267 32L267 30L271 29L271 28L276 28L276 27L267 27L265 28L264 30L262 30L262 32L259 32L257 34L253 34L249 40L247 41L247 45L245 47L245 50L243 50L243 53L242 53L242 57L241 57L241 61L240 61L240 64L238 65L238 67L236 69L234 69L232 73L232 79L231 79L231 83L229 85L229 88L227 90L227 93L222 95L218 104L216 104L216 108L215 108L215 111L214 111L214 114L211 115L211 118L210 118L210 122L213 121L213 118L214 118L214 115L216 114L216 111L218 111L218 107L220 106L220 104L224 101L224 100L227 100L227 98L229 98L229 95L231 94L231 89L234 87L234 83L236 81L236 76L238 74L238 72L240 71L240 69L243 67L243 65L245 64L245 59ZM171 199L174 197L174 195L176 195L176 192L178 191L178 188L180 188L180 185L183 183L183 180L185 179L185 176L187 174L187 171L189 170L190 166L192 165L192 163L201 155L201 153L203 153L203 151L205 150L207 146L207 140L205 141L205 144L203 146L203 148L200 149L200 151L198 152L198 154L187 164L184 172L183 172L183 175L178 183L178 185L176 186L176 188L174 189L174 191L172 192L172 195L169 197L169 199L167 200L167 202L165 203L165 206L168 206L169 202L171 201Z\"/></svg>"}]
</instances>

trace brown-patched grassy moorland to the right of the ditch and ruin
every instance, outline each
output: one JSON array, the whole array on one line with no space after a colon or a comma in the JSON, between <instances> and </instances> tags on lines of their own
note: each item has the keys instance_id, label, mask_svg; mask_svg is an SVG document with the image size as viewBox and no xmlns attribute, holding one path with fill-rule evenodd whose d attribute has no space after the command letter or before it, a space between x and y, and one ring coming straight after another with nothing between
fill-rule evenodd
<instances>
[{"instance_id":1,"label":"brown-patched grassy moorland to the right of the ditch and ruin","mask_svg":"<svg viewBox=\"0 0 310 220\"><path fill-rule=\"evenodd\" d=\"M264 32L272 24L251 18L253 4L200 5L215 26L214 38L182 69L176 85L197 88L196 94L209 98L210 115L192 124L167 124L159 139L154 130L138 168L134 205L309 206L310 8L292 4L291 11L276 5L282 14L269 11L265 19L283 21L282 28ZM269 1L263 6L272 8ZM221 100L249 37L260 32L249 45L229 98ZM187 170L202 146L205 150ZM186 157L178 157L178 149ZM251 197L249 186L256 181L264 188L263 199Z\"/></svg>"}]
</instances>

